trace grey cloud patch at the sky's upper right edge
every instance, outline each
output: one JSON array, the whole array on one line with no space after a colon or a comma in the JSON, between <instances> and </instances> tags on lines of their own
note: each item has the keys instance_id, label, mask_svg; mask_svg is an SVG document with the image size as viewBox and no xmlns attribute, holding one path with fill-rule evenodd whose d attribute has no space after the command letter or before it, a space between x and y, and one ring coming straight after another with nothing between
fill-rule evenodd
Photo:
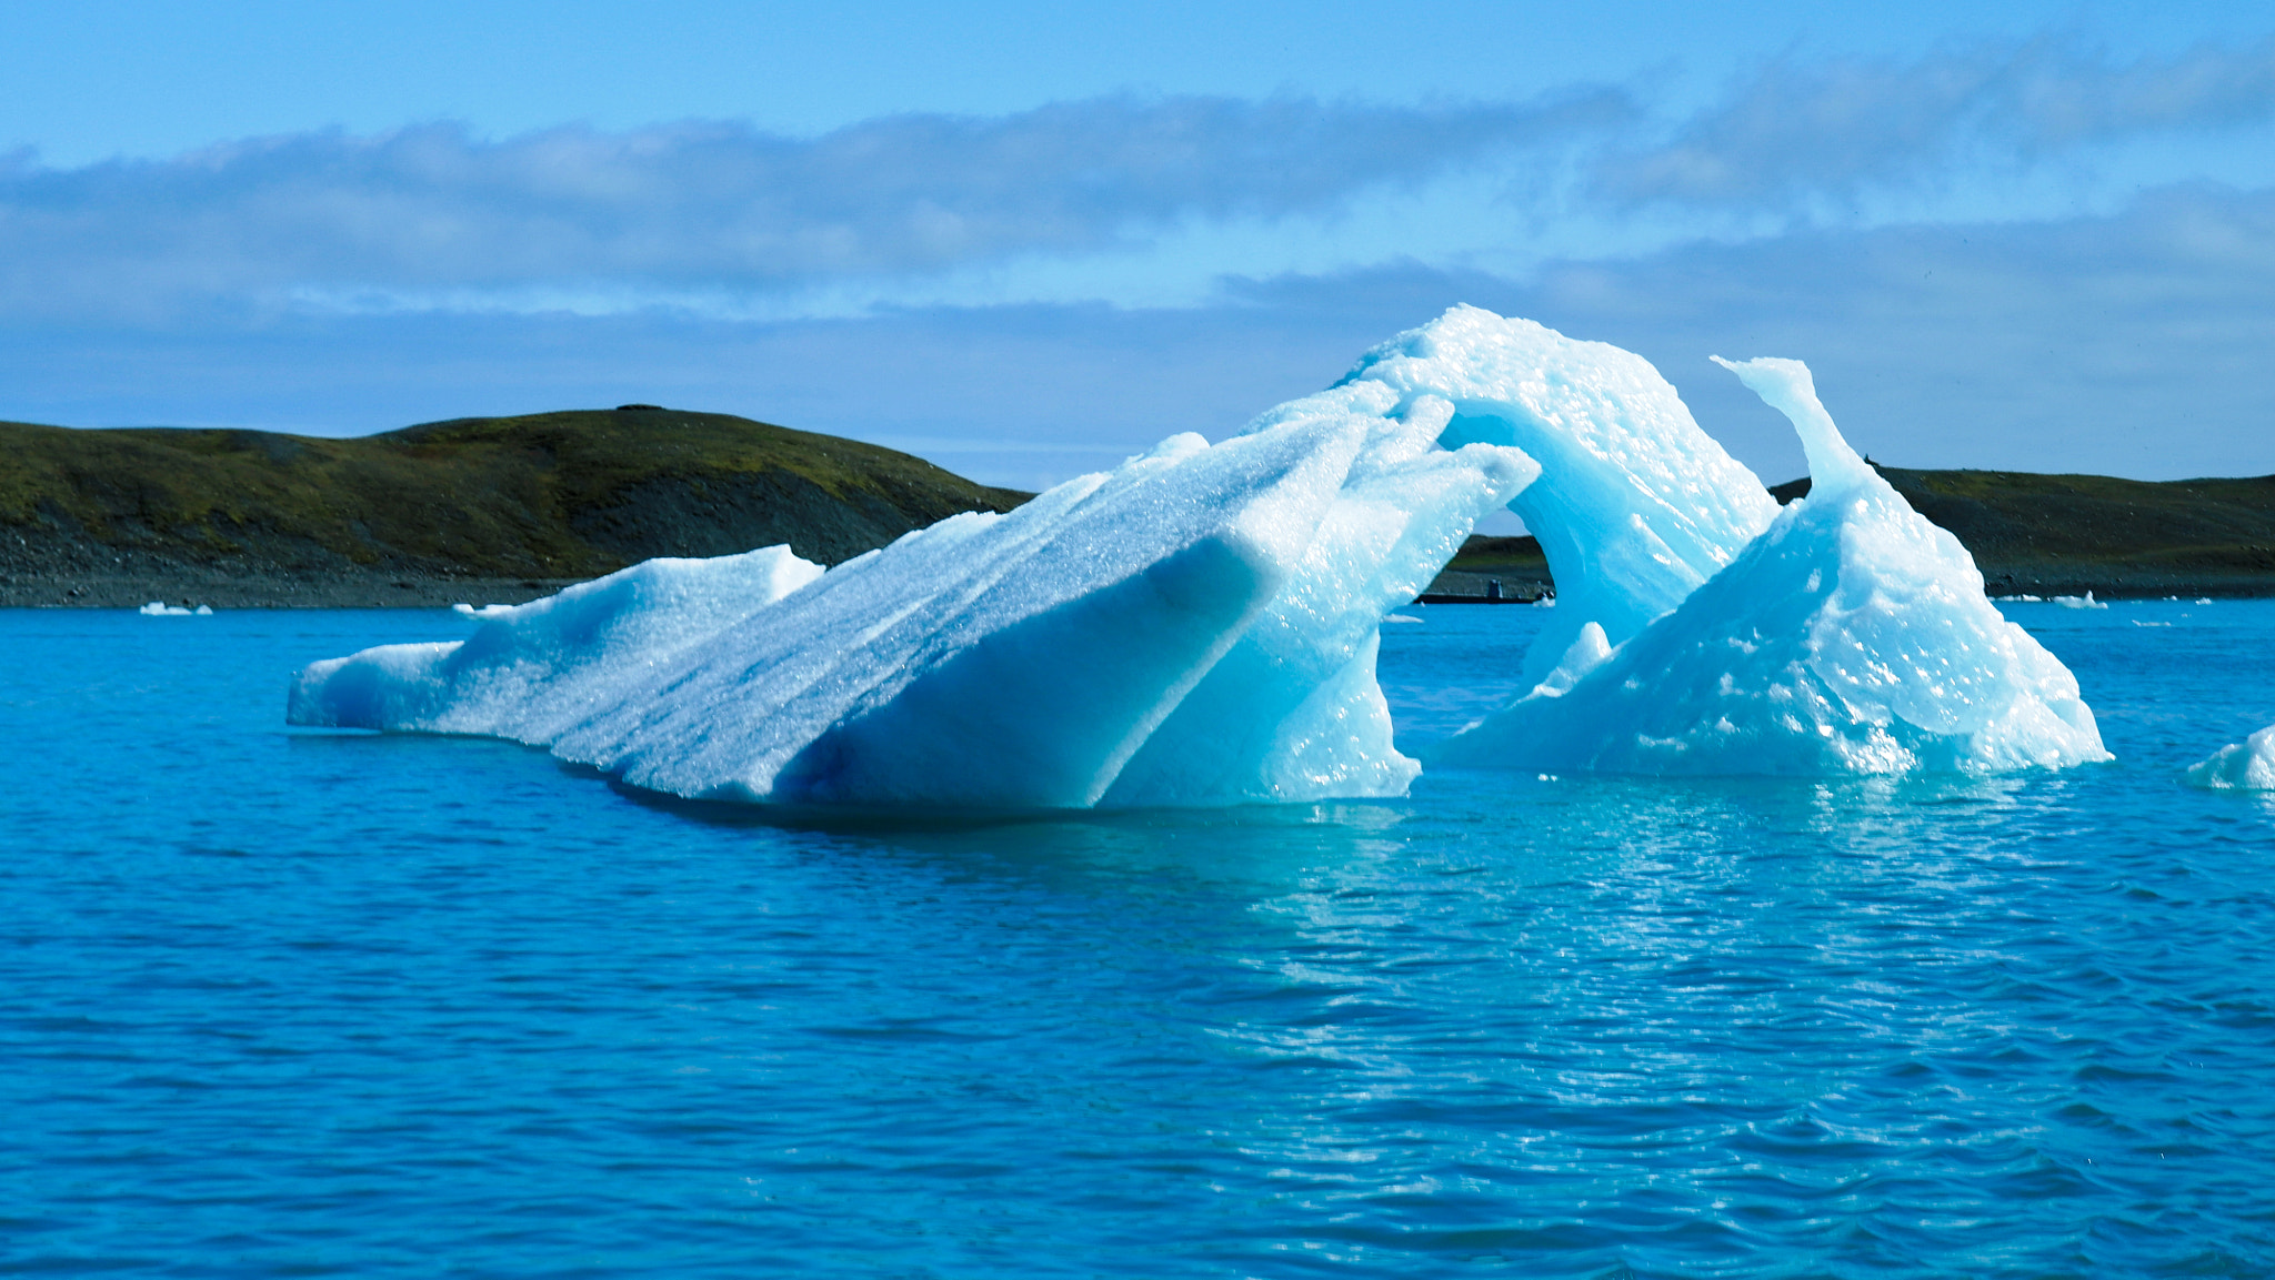
<instances>
[{"instance_id":1,"label":"grey cloud patch at the sky's upper right edge","mask_svg":"<svg viewBox=\"0 0 2275 1280\"><path fill-rule=\"evenodd\" d=\"M2111 64L2068 41L1918 61L1772 61L1658 146L1613 150L1590 191L1615 205L1781 209L1916 184L1970 159L2027 164L2129 136L2275 118L2275 39Z\"/></svg>"}]
</instances>

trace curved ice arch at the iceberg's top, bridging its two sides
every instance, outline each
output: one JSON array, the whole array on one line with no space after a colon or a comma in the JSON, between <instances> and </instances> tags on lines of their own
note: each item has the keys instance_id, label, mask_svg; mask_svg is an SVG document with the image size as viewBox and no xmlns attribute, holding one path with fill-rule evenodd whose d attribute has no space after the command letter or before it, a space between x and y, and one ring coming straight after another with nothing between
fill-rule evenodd
<instances>
[{"instance_id":1,"label":"curved ice arch at the iceberg's top, bridging its two sides","mask_svg":"<svg viewBox=\"0 0 2275 1280\"><path fill-rule=\"evenodd\" d=\"M1454 405L1447 448L1522 448L1540 482L1511 502L1556 577L1556 616L1524 662L1540 680L1595 623L1640 632L1770 527L1777 500L1699 430L1640 355L1533 321L1454 307L1360 357L1345 384Z\"/></svg>"}]
</instances>

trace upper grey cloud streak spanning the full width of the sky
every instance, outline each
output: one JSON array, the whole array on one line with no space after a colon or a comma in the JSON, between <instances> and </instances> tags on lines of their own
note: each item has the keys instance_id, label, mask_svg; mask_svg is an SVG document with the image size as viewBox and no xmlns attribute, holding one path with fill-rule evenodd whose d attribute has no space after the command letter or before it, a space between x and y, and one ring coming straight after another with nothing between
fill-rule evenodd
<instances>
[{"instance_id":1,"label":"upper grey cloud streak spanning the full width of the sky","mask_svg":"<svg viewBox=\"0 0 2275 1280\"><path fill-rule=\"evenodd\" d=\"M2248 184L2275 184L2270 123L2275 39L2132 61L2041 39L1786 59L1684 118L1618 89L1422 107L1122 95L812 139L421 125L80 168L18 152L0 157L0 325L1147 305L1163 291L1131 280L1190 280L1199 298L1217 271L1408 255L1524 273L1574 243L1652 255L1731 227L1886 223L1834 205L2159 136L2241 136L2239 155L2268 157L2243 164L2264 171Z\"/></svg>"}]
</instances>

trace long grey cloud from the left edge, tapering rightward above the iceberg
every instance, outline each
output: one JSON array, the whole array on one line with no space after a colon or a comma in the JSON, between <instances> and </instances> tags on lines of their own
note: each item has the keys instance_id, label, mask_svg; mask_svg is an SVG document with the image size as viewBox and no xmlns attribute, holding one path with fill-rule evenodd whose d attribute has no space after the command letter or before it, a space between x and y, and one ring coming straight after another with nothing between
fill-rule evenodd
<instances>
[{"instance_id":1,"label":"long grey cloud from the left edge, tapering rightward above the iceberg","mask_svg":"<svg viewBox=\"0 0 2275 1280\"><path fill-rule=\"evenodd\" d=\"M1092 252L1181 221L1333 211L1633 114L1524 105L1097 98L887 116L817 139L735 123L460 125L253 139L71 171L0 157L0 307L164 316L291 291L769 291Z\"/></svg>"}]
</instances>

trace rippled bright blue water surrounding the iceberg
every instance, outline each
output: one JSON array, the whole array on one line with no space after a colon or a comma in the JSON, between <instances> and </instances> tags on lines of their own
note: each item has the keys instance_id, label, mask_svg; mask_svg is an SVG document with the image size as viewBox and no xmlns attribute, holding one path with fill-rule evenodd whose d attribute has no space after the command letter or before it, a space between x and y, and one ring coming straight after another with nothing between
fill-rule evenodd
<instances>
[{"instance_id":1,"label":"rippled bright blue water surrounding the iceberg","mask_svg":"<svg viewBox=\"0 0 2275 1280\"><path fill-rule=\"evenodd\" d=\"M842 828L0 614L0 1271L2275 1275L2275 605L2009 614L2118 764Z\"/></svg>"}]
</instances>

